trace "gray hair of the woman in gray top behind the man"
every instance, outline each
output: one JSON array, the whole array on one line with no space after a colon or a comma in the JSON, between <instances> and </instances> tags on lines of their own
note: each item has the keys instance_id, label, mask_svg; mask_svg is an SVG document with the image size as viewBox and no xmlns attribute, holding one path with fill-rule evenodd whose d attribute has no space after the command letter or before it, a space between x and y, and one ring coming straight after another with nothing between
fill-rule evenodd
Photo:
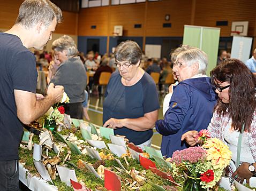
<instances>
[{"instance_id":1,"label":"gray hair of the woman in gray top behind the man","mask_svg":"<svg viewBox=\"0 0 256 191\"><path fill-rule=\"evenodd\" d=\"M51 49L54 51L62 52L67 51L67 57L74 57L78 54L77 46L74 43L73 38L68 35L64 35L56 39L52 45Z\"/></svg>"}]
</instances>

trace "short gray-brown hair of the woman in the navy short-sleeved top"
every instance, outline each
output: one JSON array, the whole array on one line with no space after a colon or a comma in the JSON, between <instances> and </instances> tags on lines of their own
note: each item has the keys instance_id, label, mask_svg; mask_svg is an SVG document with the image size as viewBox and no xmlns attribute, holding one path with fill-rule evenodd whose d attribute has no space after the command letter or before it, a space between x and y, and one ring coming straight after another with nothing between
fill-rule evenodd
<instances>
[{"instance_id":1,"label":"short gray-brown hair of the woman in the navy short-sleeved top","mask_svg":"<svg viewBox=\"0 0 256 191\"><path fill-rule=\"evenodd\" d=\"M142 59L140 46L134 41L125 41L116 47L115 59L118 61L129 61L136 65Z\"/></svg>"}]
</instances>

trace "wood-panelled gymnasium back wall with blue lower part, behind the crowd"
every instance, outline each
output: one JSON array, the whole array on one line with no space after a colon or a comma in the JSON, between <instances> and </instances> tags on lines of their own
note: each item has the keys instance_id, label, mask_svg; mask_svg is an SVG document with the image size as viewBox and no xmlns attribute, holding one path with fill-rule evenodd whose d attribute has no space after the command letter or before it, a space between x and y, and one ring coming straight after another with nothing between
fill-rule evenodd
<instances>
[{"instance_id":1,"label":"wood-panelled gymnasium back wall with blue lower part, behind the crowd","mask_svg":"<svg viewBox=\"0 0 256 191\"><path fill-rule=\"evenodd\" d=\"M13 25L21 2L0 1L0 30ZM55 33L79 39L78 48L84 52L88 51L89 38L99 39L100 53L111 52L116 43L129 38L138 41L142 49L145 44L156 42L171 49L180 39L182 41L184 25L216 27L216 21L228 21L228 26L217 27L221 28L221 37L231 39L232 21L249 21L248 36L255 38L255 7L255 0L163 0L92 7L80 9L79 13L63 11L64 21L57 26ZM166 14L170 14L169 21L164 19ZM171 23L171 27L164 28L164 23ZM134 28L137 24L141 28ZM123 26L123 37L113 37L115 25ZM48 43L47 49L49 47ZM253 47L256 47L256 41L253 41Z\"/></svg>"}]
</instances>

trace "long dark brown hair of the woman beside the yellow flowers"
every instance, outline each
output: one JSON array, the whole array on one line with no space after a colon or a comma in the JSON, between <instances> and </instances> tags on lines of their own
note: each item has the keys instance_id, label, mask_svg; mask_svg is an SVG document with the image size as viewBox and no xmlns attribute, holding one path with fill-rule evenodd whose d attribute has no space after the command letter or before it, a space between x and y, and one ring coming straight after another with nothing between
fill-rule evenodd
<instances>
[{"instance_id":1,"label":"long dark brown hair of the woman beside the yellow flowers","mask_svg":"<svg viewBox=\"0 0 256 191\"><path fill-rule=\"evenodd\" d=\"M245 131L250 132L250 125L256 107L255 85L256 78L245 64L237 59L226 59L210 71L212 83L216 80L229 82L229 104L224 104L220 99L215 106L217 114L228 114L235 130L241 132L243 124Z\"/></svg>"}]
</instances>

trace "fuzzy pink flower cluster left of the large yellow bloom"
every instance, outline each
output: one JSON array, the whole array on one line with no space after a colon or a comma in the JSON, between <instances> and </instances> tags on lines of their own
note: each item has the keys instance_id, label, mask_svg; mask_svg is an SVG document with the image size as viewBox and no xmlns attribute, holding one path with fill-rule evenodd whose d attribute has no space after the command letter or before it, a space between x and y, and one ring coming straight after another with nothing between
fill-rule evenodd
<instances>
[{"instance_id":1,"label":"fuzzy pink flower cluster left of the large yellow bloom","mask_svg":"<svg viewBox=\"0 0 256 191\"><path fill-rule=\"evenodd\" d=\"M189 147L183 150L176 150L174 154L172 154L170 162L175 162L175 164L180 164L183 161L197 163L198 161L205 160L206 154L206 150L201 147Z\"/></svg>"}]
</instances>

